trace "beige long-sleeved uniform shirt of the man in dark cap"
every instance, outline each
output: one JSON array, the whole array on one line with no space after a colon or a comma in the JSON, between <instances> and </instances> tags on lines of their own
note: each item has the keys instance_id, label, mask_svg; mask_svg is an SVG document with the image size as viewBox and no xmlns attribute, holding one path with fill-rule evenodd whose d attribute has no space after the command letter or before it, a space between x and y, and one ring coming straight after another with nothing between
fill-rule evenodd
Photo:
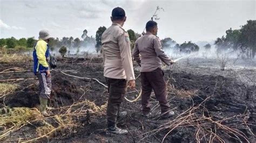
<instances>
[{"instance_id":1,"label":"beige long-sleeved uniform shirt of the man in dark cap","mask_svg":"<svg viewBox=\"0 0 256 143\"><path fill-rule=\"evenodd\" d=\"M127 39L128 37L128 39ZM113 23L102 35L104 76L109 78L134 78L129 35L117 23Z\"/></svg>"}]
</instances>

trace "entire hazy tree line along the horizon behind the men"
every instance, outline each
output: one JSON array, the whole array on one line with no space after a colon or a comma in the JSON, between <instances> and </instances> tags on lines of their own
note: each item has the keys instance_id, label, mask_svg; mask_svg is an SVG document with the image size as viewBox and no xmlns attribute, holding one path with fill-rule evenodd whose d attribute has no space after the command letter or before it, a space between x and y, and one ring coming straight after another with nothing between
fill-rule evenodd
<instances>
[{"instance_id":1,"label":"entire hazy tree line along the horizon behind the men","mask_svg":"<svg viewBox=\"0 0 256 143\"><path fill-rule=\"evenodd\" d=\"M87 46L95 46L96 52L99 52L102 47L101 37L103 32L106 30L105 26L100 26L96 31L95 38L87 35L87 30L84 30L80 38L63 37L51 38L49 46L53 51L54 48L68 47L68 48L79 48ZM141 34L134 32L133 30L127 30L129 33L131 48L134 47L134 42L141 36ZM35 46L35 38L21 38L15 39L2 38L0 39L0 47L6 46L6 48L32 48ZM161 45L164 48L174 48L176 51L183 53L191 53L199 51L199 46L192 41L183 42L183 44L177 44L171 38L164 38L161 40ZM256 20L248 20L247 24L241 26L239 30L232 30L230 28L226 31L226 35L221 38L217 38L214 42L215 47L218 51L233 49L234 51L241 50L247 53L250 58L254 58L256 52ZM210 49L211 45L206 44L205 49Z\"/></svg>"}]
</instances>

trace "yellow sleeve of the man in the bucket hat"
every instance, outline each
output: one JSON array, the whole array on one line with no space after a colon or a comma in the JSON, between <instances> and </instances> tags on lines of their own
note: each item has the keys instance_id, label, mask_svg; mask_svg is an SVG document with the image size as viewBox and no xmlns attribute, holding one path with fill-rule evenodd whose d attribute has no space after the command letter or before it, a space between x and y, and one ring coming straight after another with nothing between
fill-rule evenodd
<instances>
[{"instance_id":1,"label":"yellow sleeve of the man in the bucket hat","mask_svg":"<svg viewBox=\"0 0 256 143\"><path fill-rule=\"evenodd\" d=\"M45 70L48 70L49 66L45 57L46 50L47 50L47 45L44 45L40 42L37 44L36 54L37 54L38 63L41 64L45 68Z\"/></svg>"}]
</instances>

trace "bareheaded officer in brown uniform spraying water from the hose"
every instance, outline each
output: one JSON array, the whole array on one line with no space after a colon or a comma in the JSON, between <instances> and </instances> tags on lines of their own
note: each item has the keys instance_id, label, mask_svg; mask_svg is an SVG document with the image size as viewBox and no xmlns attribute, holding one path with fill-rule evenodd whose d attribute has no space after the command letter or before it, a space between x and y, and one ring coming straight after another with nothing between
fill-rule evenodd
<instances>
[{"instance_id":1,"label":"bareheaded officer in brown uniform spraying water from the hose","mask_svg":"<svg viewBox=\"0 0 256 143\"><path fill-rule=\"evenodd\" d=\"M161 69L161 62L170 66L173 64L163 51L160 39L156 36L158 31L157 23L150 20L146 24L146 33L138 38L133 48L133 58L141 66L140 76L142 78L142 112L145 117L151 115L150 95L152 89L160 104L161 117L168 118L174 115L169 112L167 103L166 83L164 71ZM140 55L140 56L139 56Z\"/></svg>"}]
</instances>

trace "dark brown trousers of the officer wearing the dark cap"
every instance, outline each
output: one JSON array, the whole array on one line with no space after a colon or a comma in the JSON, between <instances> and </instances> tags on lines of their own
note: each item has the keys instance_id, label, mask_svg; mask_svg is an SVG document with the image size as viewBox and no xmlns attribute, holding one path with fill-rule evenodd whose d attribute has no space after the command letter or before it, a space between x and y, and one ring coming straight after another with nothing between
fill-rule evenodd
<instances>
[{"instance_id":1,"label":"dark brown trousers of the officer wearing the dark cap","mask_svg":"<svg viewBox=\"0 0 256 143\"><path fill-rule=\"evenodd\" d=\"M109 101L107 103L107 123L108 126L115 126L120 105L123 102L126 88L126 80L106 78L109 91Z\"/></svg>"}]
</instances>

